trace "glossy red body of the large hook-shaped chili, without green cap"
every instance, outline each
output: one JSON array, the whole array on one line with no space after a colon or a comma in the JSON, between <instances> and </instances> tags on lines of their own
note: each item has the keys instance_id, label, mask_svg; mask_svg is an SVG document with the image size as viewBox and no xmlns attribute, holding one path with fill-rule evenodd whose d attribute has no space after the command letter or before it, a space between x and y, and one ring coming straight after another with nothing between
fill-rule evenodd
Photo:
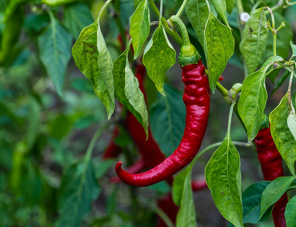
<instances>
[{"instance_id":1,"label":"glossy red body of the large hook-shaped chili, without green cap","mask_svg":"<svg viewBox=\"0 0 296 227\"><path fill-rule=\"evenodd\" d=\"M186 124L181 143L172 155L145 173L127 173L121 168L122 162L118 162L115 171L128 185L149 186L172 176L192 161L201 146L210 109L209 81L201 60L181 68L185 84L183 102L186 107ZM153 155L153 151L150 155Z\"/></svg>"}]
</instances>

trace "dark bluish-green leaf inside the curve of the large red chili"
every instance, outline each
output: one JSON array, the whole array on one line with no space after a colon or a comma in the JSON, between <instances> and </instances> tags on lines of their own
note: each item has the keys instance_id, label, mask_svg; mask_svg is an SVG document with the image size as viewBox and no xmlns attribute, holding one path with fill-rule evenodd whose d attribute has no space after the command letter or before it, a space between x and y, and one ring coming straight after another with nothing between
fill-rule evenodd
<instances>
[{"instance_id":1,"label":"dark bluish-green leaf inside the curve of the large red chili","mask_svg":"<svg viewBox=\"0 0 296 227\"><path fill-rule=\"evenodd\" d=\"M185 129L186 109L182 94L164 84L166 96L158 94L150 106L150 128L165 155L179 146Z\"/></svg>"}]
</instances>

